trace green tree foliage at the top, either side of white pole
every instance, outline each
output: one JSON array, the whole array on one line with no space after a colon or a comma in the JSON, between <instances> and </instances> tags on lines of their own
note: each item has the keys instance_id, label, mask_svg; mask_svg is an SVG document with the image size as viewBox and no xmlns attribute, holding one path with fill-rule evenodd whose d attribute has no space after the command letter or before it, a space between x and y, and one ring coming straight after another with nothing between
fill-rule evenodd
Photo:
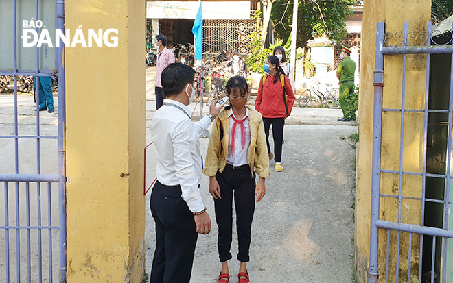
<instances>
[{"instance_id":1,"label":"green tree foliage at the top, either side of white pole","mask_svg":"<svg viewBox=\"0 0 453 283\"><path fill-rule=\"evenodd\" d=\"M356 0L299 0L297 46L305 47L314 36L327 35L332 42L346 38L345 20ZM292 1L277 0L272 5L272 22L279 38L288 38L292 26Z\"/></svg>"}]
</instances>

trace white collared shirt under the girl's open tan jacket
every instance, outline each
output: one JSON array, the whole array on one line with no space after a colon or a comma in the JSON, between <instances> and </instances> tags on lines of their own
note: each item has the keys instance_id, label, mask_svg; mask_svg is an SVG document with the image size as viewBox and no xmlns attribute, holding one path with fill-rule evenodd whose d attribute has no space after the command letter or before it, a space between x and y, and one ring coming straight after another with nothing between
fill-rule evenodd
<instances>
[{"instance_id":1,"label":"white collared shirt under the girl's open tan jacket","mask_svg":"<svg viewBox=\"0 0 453 283\"><path fill-rule=\"evenodd\" d=\"M233 119L234 113L233 110L230 109L228 112L228 117L230 119L230 140L229 140L229 145L228 145L228 156L227 156L227 163L233 165L233 166L241 166L248 164L247 162L247 152L248 152L248 146L250 145L250 116L248 116L248 109L246 108L246 114L244 126L246 130L246 143L244 146L244 149L242 149L242 142L241 142L241 136L242 136L242 131L241 131L241 125L236 125L236 132L234 134L234 137L231 136L231 133L233 132L233 125L234 125L234 119ZM234 116L236 119L236 116ZM244 118L242 118L244 119ZM241 119L241 120L242 120ZM236 119L237 120L237 119ZM231 154L231 139L234 138L234 155Z\"/></svg>"}]
</instances>

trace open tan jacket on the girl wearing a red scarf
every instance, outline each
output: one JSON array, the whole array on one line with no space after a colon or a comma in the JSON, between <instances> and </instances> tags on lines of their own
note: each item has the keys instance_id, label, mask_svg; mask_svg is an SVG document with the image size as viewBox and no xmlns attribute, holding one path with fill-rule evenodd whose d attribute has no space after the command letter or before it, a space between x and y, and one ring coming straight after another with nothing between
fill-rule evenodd
<instances>
[{"instance_id":1,"label":"open tan jacket on the girl wearing a red scarf","mask_svg":"<svg viewBox=\"0 0 453 283\"><path fill-rule=\"evenodd\" d=\"M269 156L268 147L266 145L266 134L264 133L264 125L261 114L257 110L248 107L249 125L250 125L250 146L248 147L247 161L250 165L251 174L253 169L259 177L268 178ZM206 153L206 163L203 173L207 176L215 176L217 170L220 173L225 169L228 156L228 144L230 136L230 119L228 110L220 111L212 126L211 137L209 138L209 146ZM223 129L223 138L220 140L220 125Z\"/></svg>"}]
</instances>

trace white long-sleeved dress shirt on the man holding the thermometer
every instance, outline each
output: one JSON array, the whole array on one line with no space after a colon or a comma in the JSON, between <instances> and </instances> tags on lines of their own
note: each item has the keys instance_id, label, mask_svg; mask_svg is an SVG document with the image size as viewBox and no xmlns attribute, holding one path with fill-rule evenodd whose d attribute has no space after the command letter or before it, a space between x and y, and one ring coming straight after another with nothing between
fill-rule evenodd
<instances>
[{"instance_id":1,"label":"white long-sleeved dress shirt on the man holding the thermometer","mask_svg":"<svg viewBox=\"0 0 453 283\"><path fill-rule=\"evenodd\" d=\"M205 208L200 195L202 160L198 138L211 119L204 116L193 123L191 111L183 103L164 99L152 117L152 142L156 146L157 180L167 186L181 186L191 212Z\"/></svg>"}]
</instances>

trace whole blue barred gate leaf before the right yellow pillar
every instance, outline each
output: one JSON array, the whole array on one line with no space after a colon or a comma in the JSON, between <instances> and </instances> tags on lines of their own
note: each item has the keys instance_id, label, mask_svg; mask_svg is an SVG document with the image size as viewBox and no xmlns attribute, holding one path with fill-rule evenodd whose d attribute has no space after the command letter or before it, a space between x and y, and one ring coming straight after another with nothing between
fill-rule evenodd
<instances>
[{"instance_id":1,"label":"whole blue barred gate leaf before the right yellow pillar","mask_svg":"<svg viewBox=\"0 0 453 283\"><path fill-rule=\"evenodd\" d=\"M369 283L453 282L452 30L377 23ZM386 60L401 68L386 70ZM414 93L406 77L425 66L425 91ZM400 88L385 88L388 71Z\"/></svg>"}]
</instances>

